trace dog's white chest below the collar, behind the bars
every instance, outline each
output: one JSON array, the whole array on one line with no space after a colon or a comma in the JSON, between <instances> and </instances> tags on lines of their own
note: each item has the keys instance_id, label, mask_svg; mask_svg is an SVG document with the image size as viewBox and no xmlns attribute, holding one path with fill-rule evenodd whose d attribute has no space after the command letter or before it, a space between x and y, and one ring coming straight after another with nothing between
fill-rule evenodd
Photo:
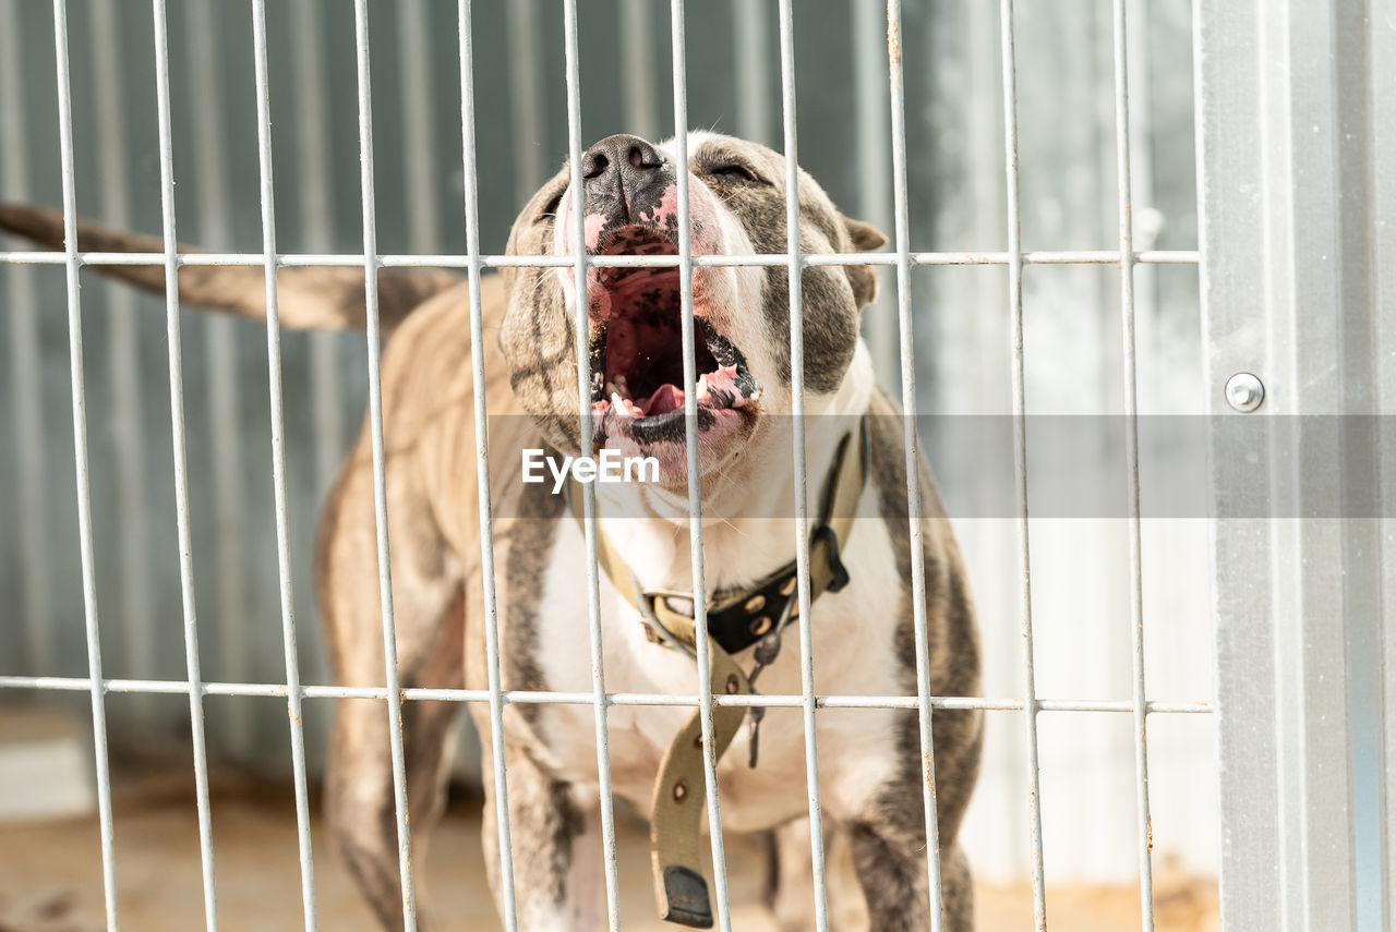
<instances>
[{"instance_id":1,"label":"dog's white chest below the collar, behind the bars","mask_svg":"<svg viewBox=\"0 0 1396 932\"><path fill-rule=\"evenodd\" d=\"M861 520L846 564L852 583L825 593L814 606L814 668L818 695L888 695L906 688L909 657L899 657L896 628L905 611L903 580L881 520ZM592 691L591 619L585 550L577 526L560 529L542 582L537 657L546 688ZM600 621L609 693L692 696L698 670L692 659L649 642L638 612L602 576ZM751 667L751 652L737 657ZM796 695L800 686L800 633L786 629L776 663L761 672L758 691ZM694 706L614 705L609 710L611 784L641 812L649 811L659 762ZM905 716L903 716L905 717ZM854 806L892 776L900 748L898 713L885 709L819 709L815 714L818 763L825 805ZM595 784L595 712L586 705L549 705L539 713L544 760L560 779ZM800 707L772 707L759 727L758 766L750 767L744 724L719 762L723 823L755 830L787 820L805 808L804 720Z\"/></svg>"}]
</instances>

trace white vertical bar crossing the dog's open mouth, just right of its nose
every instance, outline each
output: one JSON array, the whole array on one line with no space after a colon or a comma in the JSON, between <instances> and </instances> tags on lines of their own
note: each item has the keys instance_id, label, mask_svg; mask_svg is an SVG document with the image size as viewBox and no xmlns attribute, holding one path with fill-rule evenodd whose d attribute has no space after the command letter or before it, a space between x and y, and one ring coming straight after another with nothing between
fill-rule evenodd
<instances>
[{"instance_id":1,"label":"white vertical bar crossing the dog's open mouth, just right of its nose","mask_svg":"<svg viewBox=\"0 0 1396 932\"><path fill-rule=\"evenodd\" d=\"M694 268L692 227L688 204L688 56L684 40L684 3L669 4L671 56L674 64L674 180L678 201L678 301L680 332L684 349L684 453L688 469L688 554L694 592L694 653L698 671L698 724L702 732L704 787L708 795L708 840L712 844L713 900L718 928L732 928L727 903L727 857L722 836L722 806L718 799L718 758L712 746L712 674L708 642L708 594L702 559L702 474L698 472L698 396L691 391L698 382L694 343Z\"/></svg>"}]
</instances>

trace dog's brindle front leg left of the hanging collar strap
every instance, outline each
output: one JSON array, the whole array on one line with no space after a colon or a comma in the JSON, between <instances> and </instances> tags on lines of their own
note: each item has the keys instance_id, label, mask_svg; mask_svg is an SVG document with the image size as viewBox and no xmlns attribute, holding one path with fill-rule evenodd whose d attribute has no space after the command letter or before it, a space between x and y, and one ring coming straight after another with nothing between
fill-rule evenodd
<instances>
[{"instance_id":1,"label":"dog's brindle front leg left of the hanging collar strap","mask_svg":"<svg viewBox=\"0 0 1396 932\"><path fill-rule=\"evenodd\" d=\"M574 801L574 787L546 774L525 753L510 753L508 760L510 850L519 929L595 932L603 926L599 816L584 812ZM489 773L490 762L484 763ZM484 786L484 855L503 915L496 799L491 781Z\"/></svg>"}]
</instances>

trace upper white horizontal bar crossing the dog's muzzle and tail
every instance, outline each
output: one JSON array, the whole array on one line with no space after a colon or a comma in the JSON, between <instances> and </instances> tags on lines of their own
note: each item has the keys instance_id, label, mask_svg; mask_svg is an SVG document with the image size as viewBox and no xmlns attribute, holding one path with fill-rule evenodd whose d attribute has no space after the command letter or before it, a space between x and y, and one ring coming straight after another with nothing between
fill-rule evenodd
<instances>
[{"instance_id":1,"label":"upper white horizontal bar crossing the dog's muzzle and tail","mask_svg":"<svg viewBox=\"0 0 1396 932\"><path fill-rule=\"evenodd\" d=\"M1008 253L912 253L912 265L1008 265ZM179 265L262 265L260 253L177 253ZM381 268L469 268L470 257L459 254L437 255L380 255ZM0 265L63 265L63 253L7 251L0 253ZM789 265L783 253L747 255L694 255L695 268L780 266ZM1196 265L1196 250L1145 250L1135 253L1135 262L1153 265ZM290 253L276 257L282 268L355 266L363 268L364 258L341 253ZM895 253L807 253L800 255L804 266L815 265L896 265ZM1025 265L1118 265L1118 250L1037 250L1023 253ZM165 265L163 253L78 253L78 265ZM571 268L570 255L482 255L484 268ZM677 268L677 255L592 255L592 268Z\"/></svg>"}]
</instances>

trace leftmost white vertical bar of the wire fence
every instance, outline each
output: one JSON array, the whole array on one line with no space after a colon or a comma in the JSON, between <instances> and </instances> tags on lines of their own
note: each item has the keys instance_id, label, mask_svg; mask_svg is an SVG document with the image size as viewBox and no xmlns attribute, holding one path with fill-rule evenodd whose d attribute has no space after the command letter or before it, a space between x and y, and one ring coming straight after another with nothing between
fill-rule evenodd
<instances>
[{"instance_id":1,"label":"leftmost white vertical bar of the wire fence","mask_svg":"<svg viewBox=\"0 0 1396 932\"><path fill-rule=\"evenodd\" d=\"M82 384L82 303L78 289L77 184L73 173L73 88L68 78L67 0L53 0L53 50L57 60L59 159L63 170L63 258L68 290L68 375L73 391L73 466L78 499L78 550L82 559L82 617L87 628L92 693L92 745L96 765L98 825L102 840L102 893L107 932L117 932L116 858L112 852L112 769L106 752L106 682L92 566L92 494L88 487L87 399Z\"/></svg>"}]
</instances>

